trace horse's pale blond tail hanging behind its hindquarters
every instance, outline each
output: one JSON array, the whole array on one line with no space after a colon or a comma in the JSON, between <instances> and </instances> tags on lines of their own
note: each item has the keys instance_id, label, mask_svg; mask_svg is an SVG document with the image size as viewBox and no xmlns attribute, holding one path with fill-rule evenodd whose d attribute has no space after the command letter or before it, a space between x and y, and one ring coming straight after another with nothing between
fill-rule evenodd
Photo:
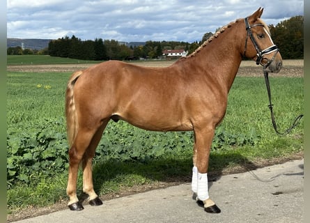
<instances>
[{"instance_id":1,"label":"horse's pale blond tail hanging behind its hindquarters","mask_svg":"<svg viewBox=\"0 0 310 223\"><path fill-rule=\"evenodd\" d=\"M65 92L65 118L67 119L67 137L70 147L77 136L77 113L75 110L75 98L73 96L73 87L75 86L75 82L80 75L82 75L82 71L77 71L72 74L68 81L67 91Z\"/></svg>"}]
</instances>

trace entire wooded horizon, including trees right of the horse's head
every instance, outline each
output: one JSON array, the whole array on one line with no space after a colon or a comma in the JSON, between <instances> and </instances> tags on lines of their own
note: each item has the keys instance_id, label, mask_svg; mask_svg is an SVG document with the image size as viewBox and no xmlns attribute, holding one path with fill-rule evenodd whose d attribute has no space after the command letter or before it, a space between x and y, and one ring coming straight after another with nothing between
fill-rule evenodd
<instances>
[{"instance_id":1,"label":"entire wooded horizon, including trees right of the horse's head","mask_svg":"<svg viewBox=\"0 0 310 223\"><path fill-rule=\"evenodd\" d=\"M272 40L280 49L283 59L304 58L304 17L298 15L279 22L276 26L269 26ZM194 52L204 41L212 36L212 32L205 33L201 41L194 43L178 41L147 41L145 45L127 46L117 40L81 40L75 36L51 40L48 48L34 52L31 49L22 50L21 47L9 47L8 54L49 54L72 59L83 60L134 60L158 59L162 57L164 49L185 49Z\"/></svg>"}]
</instances>

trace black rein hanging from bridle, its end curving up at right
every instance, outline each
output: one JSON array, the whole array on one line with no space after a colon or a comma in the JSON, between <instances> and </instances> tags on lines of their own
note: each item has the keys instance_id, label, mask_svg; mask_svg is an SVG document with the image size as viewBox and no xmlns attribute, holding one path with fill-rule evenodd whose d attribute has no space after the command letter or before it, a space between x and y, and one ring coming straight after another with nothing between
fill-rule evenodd
<instances>
[{"instance_id":1,"label":"black rein hanging from bridle, its end curving up at right","mask_svg":"<svg viewBox=\"0 0 310 223\"><path fill-rule=\"evenodd\" d=\"M269 64L268 64L269 65ZM287 130L285 130L284 132L279 132L277 130L277 124L274 118L274 113L272 110L272 102L271 102L271 93L270 93L270 84L269 84L269 78L268 78L268 72L267 72L267 67L268 66L263 66L263 71L264 71L264 77L265 77L265 83L266 83L266 87L267 87L267 92L268 92L268 98L269 98L269 109L270 109L270 114L271 114L271 121L272 121L272 125L274 130L277 132L277 134L281 134L281 135L286 135L288 133L290 133L291 130L293 130L293 128L296 127L296 125L298 124L298 122L300 121L300 119L304 116L303 114L301 114L300 116L297 116L297 118L295 118L295 121L293 122L293 125L290 126L290 128L288 128Z\"/></svg>"}]
</instances>

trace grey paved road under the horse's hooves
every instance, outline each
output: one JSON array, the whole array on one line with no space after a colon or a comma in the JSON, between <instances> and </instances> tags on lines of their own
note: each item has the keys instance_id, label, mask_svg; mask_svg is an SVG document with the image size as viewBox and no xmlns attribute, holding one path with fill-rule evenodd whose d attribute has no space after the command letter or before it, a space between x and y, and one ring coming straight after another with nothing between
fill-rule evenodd
<instances>
[{"instance_id":1,"label":"grey paved road under the horse's hooves","mask_svg":"<svg viewBox=\"0 0 310 223\"><path fill-rule=\"evenodd\" d=\"M20 223L55 222L272 222L304 221L304 160L295 160L209 182L210 196L222 213L209 214L192 199L190 184L153 190L61 210Z\"/></svg>"}]
</instances>

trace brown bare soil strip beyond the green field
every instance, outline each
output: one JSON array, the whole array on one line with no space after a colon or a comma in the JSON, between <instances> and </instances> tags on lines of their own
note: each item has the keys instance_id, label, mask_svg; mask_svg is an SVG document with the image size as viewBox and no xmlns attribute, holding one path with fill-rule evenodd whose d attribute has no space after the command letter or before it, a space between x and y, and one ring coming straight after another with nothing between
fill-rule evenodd
<instances>
[{"instance_id":1,"label":"brown bare soil strip beyond the green field","mask_svg":"<svg viewBox=\"0 0 310 223\"><path fill-rule=\"evenodd\" d=\"M145 67L166 67L175 61L139 61L130 62ZM284 67L277 74L270 73L270 77L303 77L304 76L304 60L284 60ZM93 63L77 63L77 64L48 64L48 65L8 65L8 71L18 72L75 72L84 70ZM262 66L257 66L254 61L242 61L238 70L238 76L263 77Z\"/></svg>"}]
</instances>

